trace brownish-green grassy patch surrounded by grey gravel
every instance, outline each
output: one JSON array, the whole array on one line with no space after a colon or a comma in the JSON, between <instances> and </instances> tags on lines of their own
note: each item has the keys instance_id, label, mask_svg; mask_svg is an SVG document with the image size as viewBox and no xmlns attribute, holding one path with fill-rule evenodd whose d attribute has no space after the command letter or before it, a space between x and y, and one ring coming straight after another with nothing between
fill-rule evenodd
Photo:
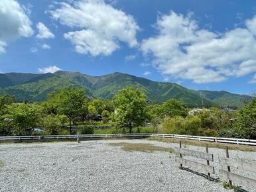
<instances>
[{"instance_id":1,"label":"brownish-green grassy patch surrounded by grey gravel","mask_svg":"<svg viewBox=\"0 0 256 192\"><path fill-rule=\"evenodd\" d=\"M122 150L127 152L172 152L172 148L164 148L160 146L155 146L153 144L143 144L143 143L128 143L128 142L118 142L107 144L109 146L120 146Z\"/></svg>"}]
</instances>

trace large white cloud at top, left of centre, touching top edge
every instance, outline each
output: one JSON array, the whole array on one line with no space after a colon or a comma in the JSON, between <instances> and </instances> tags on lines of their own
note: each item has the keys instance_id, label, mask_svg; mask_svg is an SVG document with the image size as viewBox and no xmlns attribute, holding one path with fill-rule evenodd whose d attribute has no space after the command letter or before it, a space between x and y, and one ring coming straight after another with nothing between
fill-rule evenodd
<instances>
[{"instance_id":1,"label":"large white cloud at top, left of centre, touching top edge","mask_svg":"<svg viewBox=\"0 0 256 192\"><path fill-rule=\"evenodd\" d=\"M48 11L52 18L73 28L64 34L75 46L76 52L92 56L109 56L125 42L138 45L139 26L131 15L107 5L103 0L70 1L57 3L59 9ZM76 29L76 30L75 30Z\"/></svg>"}]
</instances>

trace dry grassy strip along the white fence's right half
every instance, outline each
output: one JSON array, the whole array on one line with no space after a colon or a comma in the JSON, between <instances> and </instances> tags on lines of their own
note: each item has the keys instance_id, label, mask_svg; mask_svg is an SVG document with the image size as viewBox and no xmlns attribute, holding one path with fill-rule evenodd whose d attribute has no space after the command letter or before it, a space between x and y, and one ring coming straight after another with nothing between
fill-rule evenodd
<instances>
[{"instance_id":1,"label":"dry grassy strip along the white fence's right half","mask_svg":"<svg viewBox=\"0 0 256 192\"><path fill-rule=\"evenodd\" d=\"M172 143L178 143L181 140L182 144L191 145L191 146L204 147L204 146L208 145L210 148L220 148L220 149L225 149L225 146L228 146L228 148L230 150L256 152L255 146L247 146L247 145L225 144L225 143L206 142L206 141L197 141L197 140L185 140L185 139L177 139L177 138L147 138L147 140L157 140L160 142L172 142Z\"/></svg>"}]
</instances>

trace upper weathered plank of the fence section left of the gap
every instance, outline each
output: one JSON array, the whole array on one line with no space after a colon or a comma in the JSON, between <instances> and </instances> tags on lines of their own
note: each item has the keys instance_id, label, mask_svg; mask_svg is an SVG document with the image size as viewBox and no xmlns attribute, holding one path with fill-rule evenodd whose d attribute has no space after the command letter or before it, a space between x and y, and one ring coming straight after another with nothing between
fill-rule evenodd
<instances>
[{"instance_id":1,"label":"upper weathered plank of the fence section left of the gap","mask_svg":"<svg viewBox=\"0 0 256 192\"><path fill-rule=\"evenodd\" d=\"M211 161L211 162L214 161L214 155L213 154L198 152L198 151L194 151L194 150L187 150L187 149L184 149L184 148L176 148L176 147L174 147L174 150L178 154L184 154L186 156L192 156L192 157L195 157L195 158L200 158L200 159L208 160L208 161Z\"/></svg>"}]
</instances>

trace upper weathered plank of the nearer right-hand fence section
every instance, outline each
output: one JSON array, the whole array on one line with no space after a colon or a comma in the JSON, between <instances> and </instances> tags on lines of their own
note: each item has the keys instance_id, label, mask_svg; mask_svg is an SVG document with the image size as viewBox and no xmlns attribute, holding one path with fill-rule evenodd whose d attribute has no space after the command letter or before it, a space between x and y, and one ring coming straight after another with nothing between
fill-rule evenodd
<instances>
[{"instance_id":1,"label":"upper weathered plank of the nearer right-hand fence section","mask_svg":"<svg viewBox=\"0 0 256 192\"><path fill-rule=\"evenodd\" d=\"M256 173L256 162L245 159L219 158L220 164Z\"/></svg>"}]
</instances>

